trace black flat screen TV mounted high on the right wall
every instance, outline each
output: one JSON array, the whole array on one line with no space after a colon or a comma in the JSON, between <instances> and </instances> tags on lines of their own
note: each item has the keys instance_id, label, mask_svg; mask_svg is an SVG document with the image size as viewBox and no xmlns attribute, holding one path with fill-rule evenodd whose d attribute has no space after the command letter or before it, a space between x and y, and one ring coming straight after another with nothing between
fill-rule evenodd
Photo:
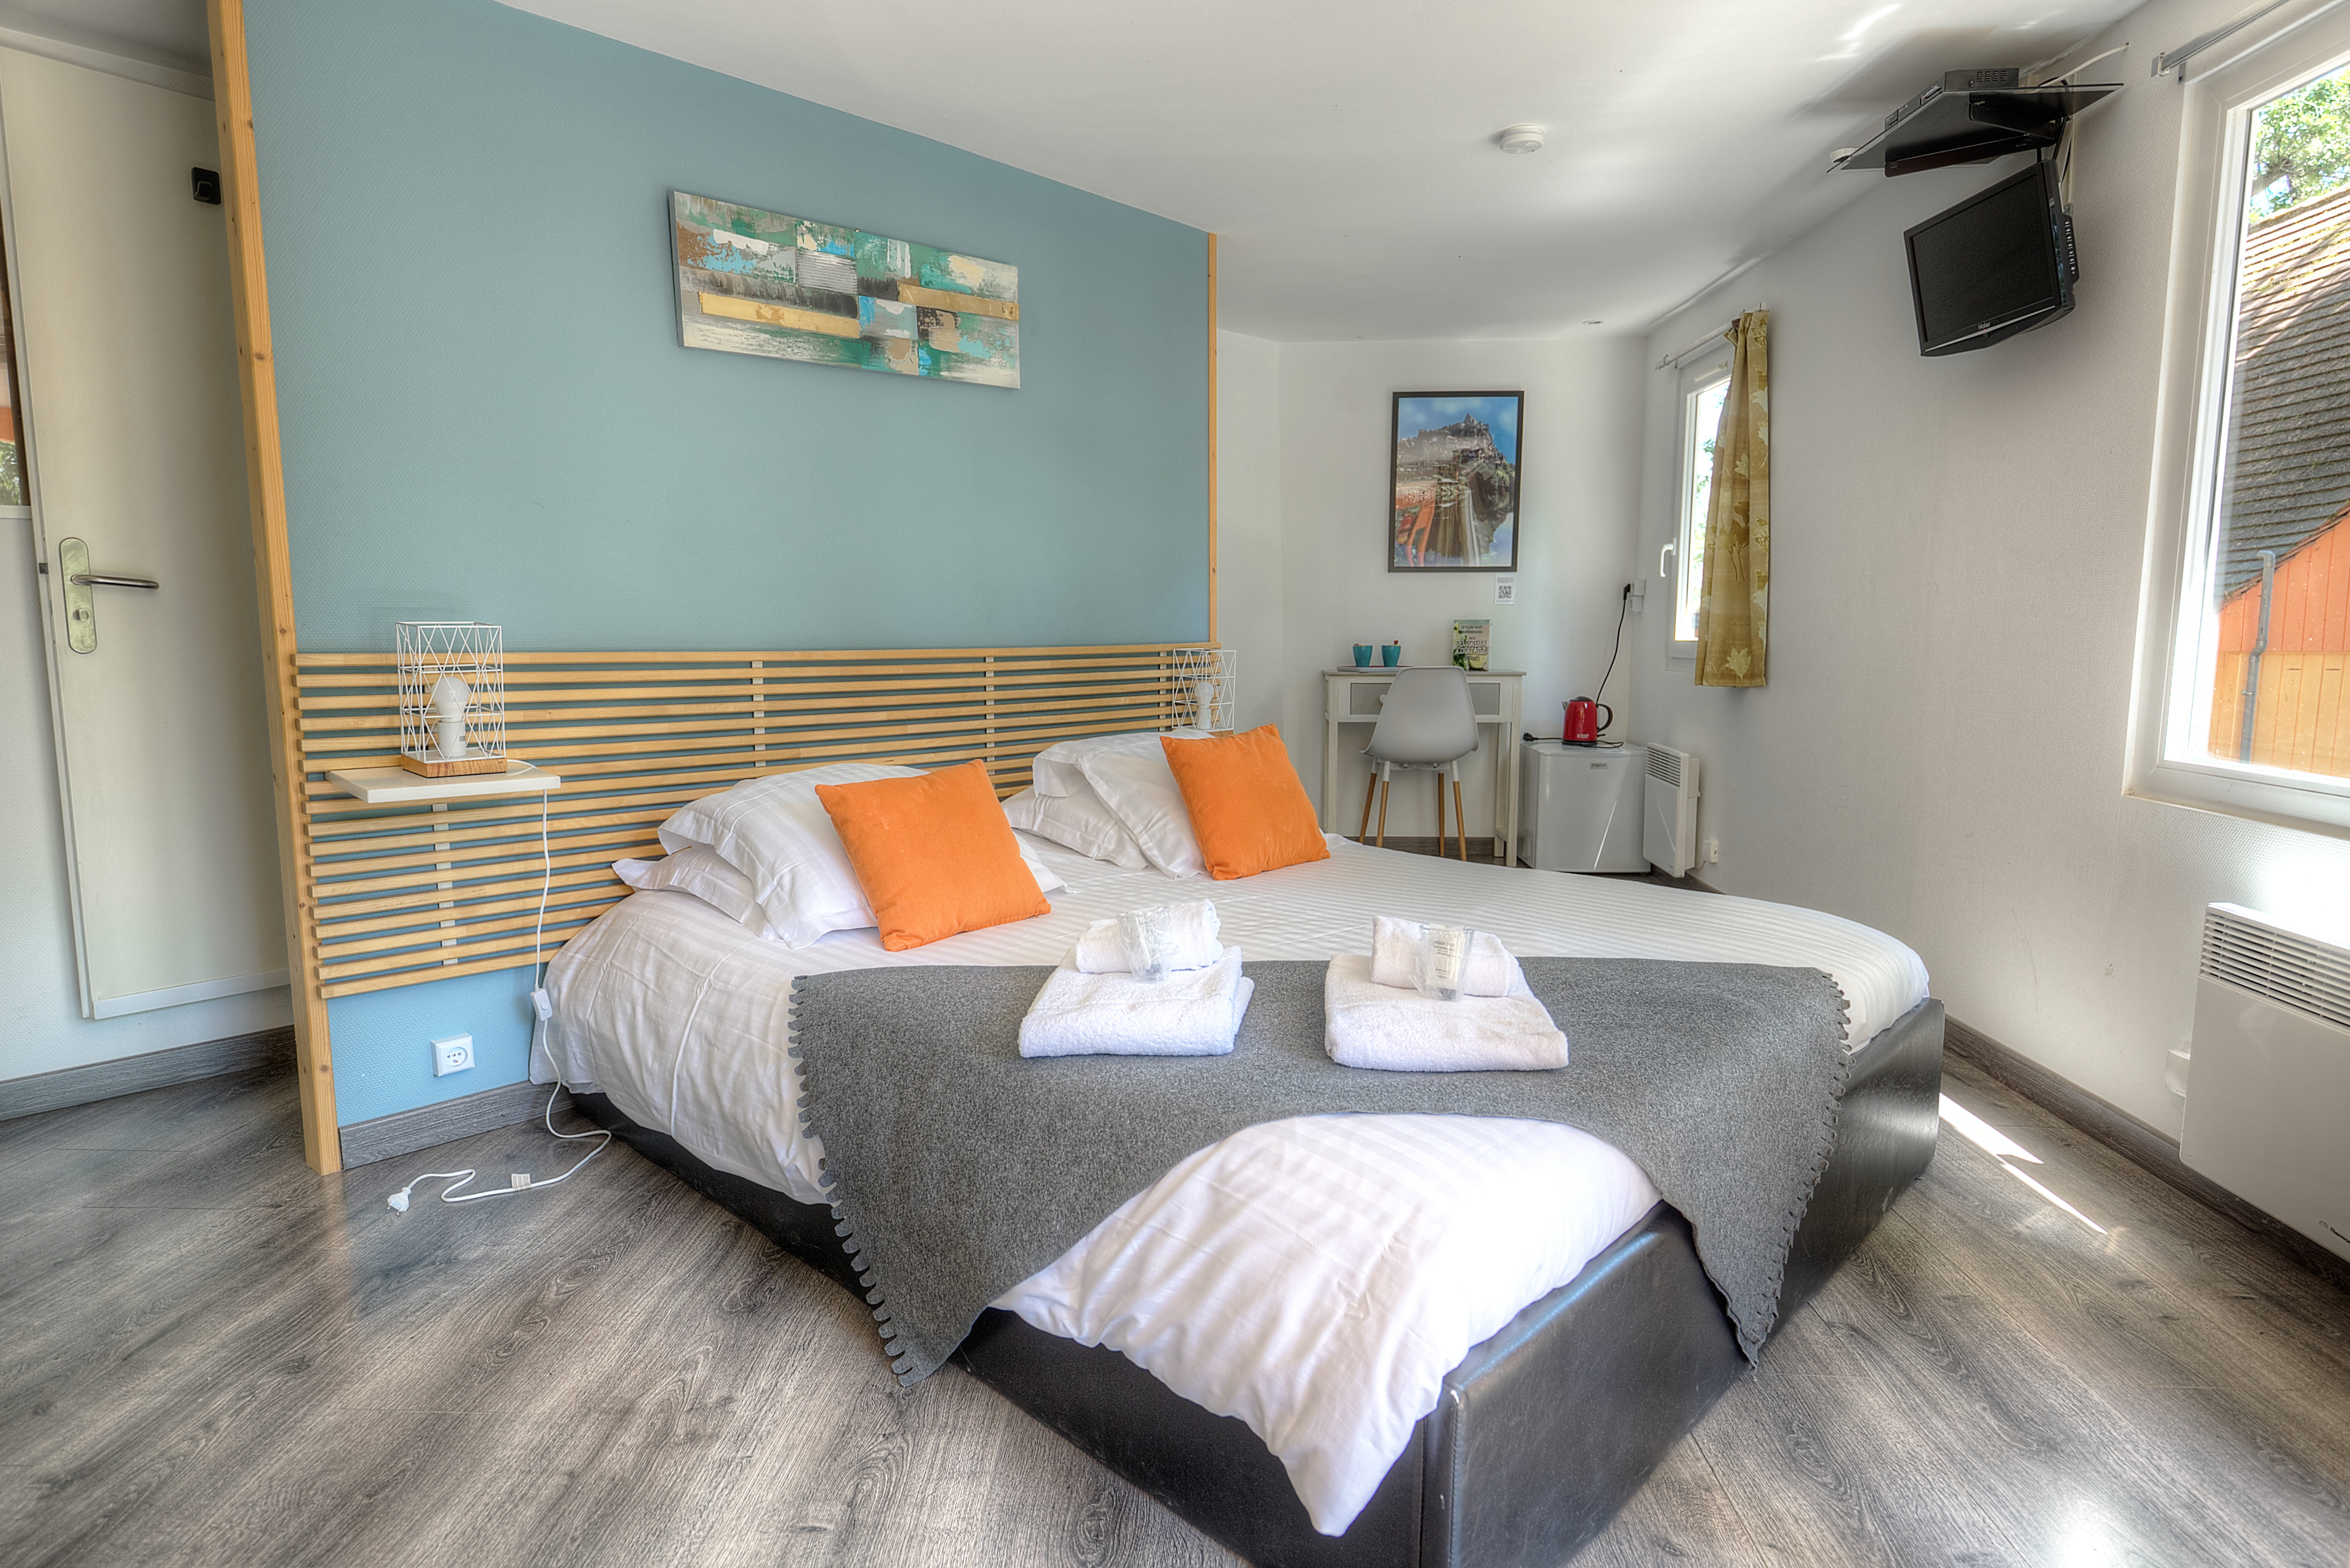
<instances>
[{"instance_id":1,"label":"black flat screen TV mounted high on the right wall","mask_svg":"<svg viewBox=\"0 0 2350 1568\"><path fill-rule=\"evenodd\" d=\"M2073 219L2052 162L2035 162L1901 237L1922 355L1990 348L2073 310Z\"/></svg>"}]
</instances>

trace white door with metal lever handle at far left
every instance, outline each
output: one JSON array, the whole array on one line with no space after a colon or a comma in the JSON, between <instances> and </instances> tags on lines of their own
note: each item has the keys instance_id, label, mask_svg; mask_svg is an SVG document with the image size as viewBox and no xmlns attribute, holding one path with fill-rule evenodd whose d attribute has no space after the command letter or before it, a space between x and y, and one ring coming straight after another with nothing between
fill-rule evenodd
<instances>
[{"instance_id":1,"label":"white door with metal lever handle at far left","mask_svg":"<svg viewBox=\"0 0 2350 1568\"><path fill-rule=\"evenodd\" d=\"M0 136L82 1011L284 985L212 103L0 49Z\"/></svg>"}]
</instances>

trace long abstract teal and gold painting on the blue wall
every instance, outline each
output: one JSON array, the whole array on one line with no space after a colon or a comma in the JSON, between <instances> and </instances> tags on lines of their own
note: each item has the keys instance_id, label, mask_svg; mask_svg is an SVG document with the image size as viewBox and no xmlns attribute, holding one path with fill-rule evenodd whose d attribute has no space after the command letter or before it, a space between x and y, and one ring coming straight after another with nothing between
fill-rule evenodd
<instances>
[{"instance_id":1,"label":"long abstract teal and gold painting on the blue wall","mask_svg":"<svg viewBox=\"0 0 2350 1568\"><path fill-rule=\"evenodd\" d=\"M686 348L1020 386L1020 268L670 193Z\"/></svg>"}]
</instances>

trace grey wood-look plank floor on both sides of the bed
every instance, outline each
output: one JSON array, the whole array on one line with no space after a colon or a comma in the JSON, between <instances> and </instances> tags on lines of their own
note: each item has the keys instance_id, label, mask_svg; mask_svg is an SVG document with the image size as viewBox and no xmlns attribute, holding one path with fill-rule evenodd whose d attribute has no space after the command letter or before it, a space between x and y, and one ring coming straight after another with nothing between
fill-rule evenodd
<instances>
[{"instance_id":1,"label":"grey wood-look plank floor on both sides of the bed","mask_svg":"<svg viewBox=\"0 0 2350 1568\"><path fill-rule=\"evenodd\" d=\"M1953 1063L1932 1171L1584 1566L2350 1556L2350 1300ZM576 1145L571 1145L576 1147ZM613 1147L317 1178L282 1072L0 1124L0 1561L1229 1563Z\"/></svg>"}]
</instances>

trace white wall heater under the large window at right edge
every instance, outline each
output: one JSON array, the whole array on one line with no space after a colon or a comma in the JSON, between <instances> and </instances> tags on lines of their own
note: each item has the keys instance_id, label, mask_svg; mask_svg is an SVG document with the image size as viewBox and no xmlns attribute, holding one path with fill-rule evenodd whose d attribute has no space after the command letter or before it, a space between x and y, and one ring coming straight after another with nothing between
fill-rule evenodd
<instances>
[{"instance_id":1,"label":"white wall heater under the large window at right edge","mask_svg":"<svg viewBox=\"0 0 2350 1568\"><path fill-rule=\"evenodd\" d=\"M2178 1157L2350 1258L2350 950L2204 910Z\"/></svg>"}]
</instances>

